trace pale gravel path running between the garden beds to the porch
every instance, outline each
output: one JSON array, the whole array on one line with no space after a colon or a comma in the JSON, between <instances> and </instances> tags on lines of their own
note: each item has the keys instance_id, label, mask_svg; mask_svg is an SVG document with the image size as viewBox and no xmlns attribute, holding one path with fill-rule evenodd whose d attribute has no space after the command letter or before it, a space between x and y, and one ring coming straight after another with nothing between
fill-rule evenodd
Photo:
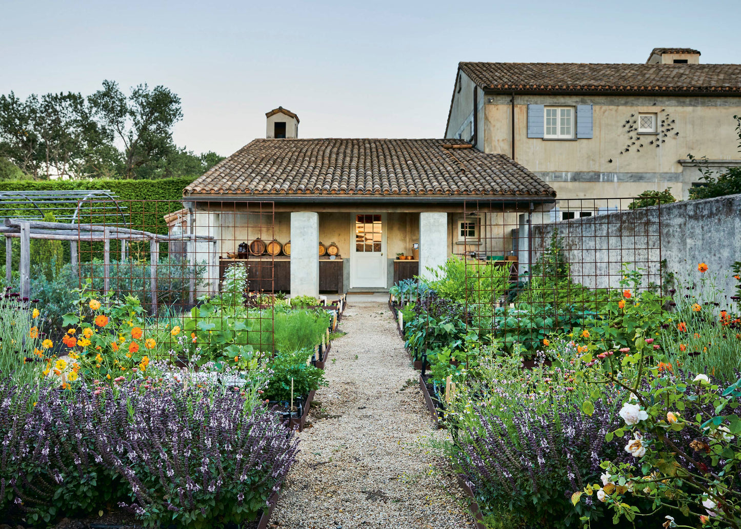
<instances>
[{"instance_id":1,"label":"pale gravel path running between the garden beds to the porch","mask_svg":"<svg viewBox=\"0 0 741 529\"><path fill-rule=\"evenodd\" d=\"M299 460L273 511L273 527L296 529L471 528L451 470L425 453L433 430L388 305L353 302L347 333L332 342L329 387L299 434ZM336 359L336 362L332 362ZM441 475L444 473L445 475Z\"/></svg>"}]
</instances>

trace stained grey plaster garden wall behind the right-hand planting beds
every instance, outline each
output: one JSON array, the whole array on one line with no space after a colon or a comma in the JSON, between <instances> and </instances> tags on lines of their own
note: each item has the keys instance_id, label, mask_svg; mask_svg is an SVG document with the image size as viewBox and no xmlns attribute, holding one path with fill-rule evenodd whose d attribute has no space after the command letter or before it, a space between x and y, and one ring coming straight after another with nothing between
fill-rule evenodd
<instances>
[{"instance_id":1,"label":"stained grey plaster garden wall behind the right-hand planting beds","mask_svg":"<svg viewBox=\"0 0 741 529\"><path fill-rule=\"evenodd\" d=\"M548 246L554 228L564 238L576 281L589 287L618 287L623 262L647 268L648 280L658 283L665 259L668 271L684 282L697 279L697 264L705 262L723 293L734 293L729 272L741 261L741 195L534 225L536 250Z\"/></svg>"}]
</instances>

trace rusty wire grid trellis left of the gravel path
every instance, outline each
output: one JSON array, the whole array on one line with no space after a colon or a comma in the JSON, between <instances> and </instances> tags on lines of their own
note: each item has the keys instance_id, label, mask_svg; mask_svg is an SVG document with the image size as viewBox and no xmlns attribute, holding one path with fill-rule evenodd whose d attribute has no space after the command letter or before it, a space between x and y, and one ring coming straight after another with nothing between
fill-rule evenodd
<instances>
[{"instance_id":1,"label":"rusty wire grid trellis left of the gravel path","mask_svg":"<svg viewBox=\"0 0 741 529\"><path fill-rule=\"evenodd\" d=\"M264 295L273 292L274 256L265 252L274 234L272 202L122 205L136 216L122 222L81 204L79 284L86 296L138 311L146 332L183 362L273 354L274 307Z\"/></svg>"}]
</instances>

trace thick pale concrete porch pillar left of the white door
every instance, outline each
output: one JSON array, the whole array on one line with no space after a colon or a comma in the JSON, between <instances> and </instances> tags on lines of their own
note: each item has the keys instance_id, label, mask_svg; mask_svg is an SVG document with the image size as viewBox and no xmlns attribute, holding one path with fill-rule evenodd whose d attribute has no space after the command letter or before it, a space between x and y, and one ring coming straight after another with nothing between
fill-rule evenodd
<instances>
[{"instance_id":1,"label":"thick pale concrete porch pillar left of the white door","mask_svg":"<svg viewBox=\"0 0 741 529\"><path fill-rule=\"evenodd\" d=\"M290 213L290 295L319 296L319 213Z\"/></svg>"}]
</instances>

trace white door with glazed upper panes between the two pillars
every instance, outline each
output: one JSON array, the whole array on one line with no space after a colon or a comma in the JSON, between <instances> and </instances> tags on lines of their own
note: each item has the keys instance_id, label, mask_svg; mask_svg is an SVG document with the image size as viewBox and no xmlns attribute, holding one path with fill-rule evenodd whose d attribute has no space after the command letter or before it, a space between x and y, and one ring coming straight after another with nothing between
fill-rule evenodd
<instances>
[{"instance_id":1,"label":"white door with glazed upper panes between the two pillars","mask_svg":"<svg viewBox=\"0 0 741 529\"><path fill-rule=\"evenodd\" d=\"M350 288L385 288L385 213L356 213L350 219L350 229Z\"/></svg>"}]
</instances>

